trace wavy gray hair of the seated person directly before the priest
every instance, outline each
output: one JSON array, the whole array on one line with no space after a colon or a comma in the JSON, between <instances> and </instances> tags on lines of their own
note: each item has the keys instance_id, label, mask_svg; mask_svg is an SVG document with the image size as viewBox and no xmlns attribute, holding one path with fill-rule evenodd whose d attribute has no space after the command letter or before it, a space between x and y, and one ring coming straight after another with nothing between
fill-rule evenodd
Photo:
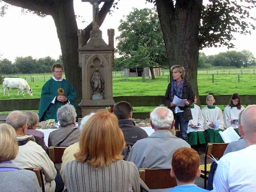
<instances>
[{"instance_id":1,"label":"wavy gray hair of the seated person directly before the priest","mask_svg":"<svg viewBox=\"0 0 256 192\"><path fill-rule=\"evenodd\" d=\"M66 104L58 108L57 119L60 122L60 126L65 127L73 123L76 118L76 109L71 104Z\"/></svg>"}]
</instances>

